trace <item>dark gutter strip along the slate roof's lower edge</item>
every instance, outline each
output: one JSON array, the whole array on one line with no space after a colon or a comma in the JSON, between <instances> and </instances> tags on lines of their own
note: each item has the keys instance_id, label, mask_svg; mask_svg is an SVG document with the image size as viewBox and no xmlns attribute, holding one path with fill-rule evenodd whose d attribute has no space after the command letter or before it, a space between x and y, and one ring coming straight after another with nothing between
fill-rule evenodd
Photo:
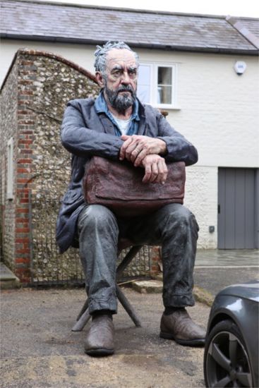
<instances>
[{"instance_id":1,"label":"dark gutter strip along the slate roof's lower edge","mask_svg":"<svg viewBox=\"0 0 259 388\"><path fill-rule=\"evenodd\" d=\"M47 37L46 35L16 35L1 33L1 38L10 40L28 40L28 41L40 41L40 42L59 42L59 43L74 43L74 44L105 44L106 40L88 40L68 37ZM126 41L131 47L138 47L143 49L158 49L158 50L171 50L171 51L189 51L189 52L207 52L214 54L243 54L243 55L258 55L258 49L224 49L220 47L192 47L192 46L174 46L167 44L152 44L152 43L135 43ZM254 45L253 45L254 47ZM32 50L33 51L33 50ZM44 52L44 51L42 51ZM55 55L55 54L53 54ZM76 65L77 66L77 65Z\"/></svg>"}]
</instances>

